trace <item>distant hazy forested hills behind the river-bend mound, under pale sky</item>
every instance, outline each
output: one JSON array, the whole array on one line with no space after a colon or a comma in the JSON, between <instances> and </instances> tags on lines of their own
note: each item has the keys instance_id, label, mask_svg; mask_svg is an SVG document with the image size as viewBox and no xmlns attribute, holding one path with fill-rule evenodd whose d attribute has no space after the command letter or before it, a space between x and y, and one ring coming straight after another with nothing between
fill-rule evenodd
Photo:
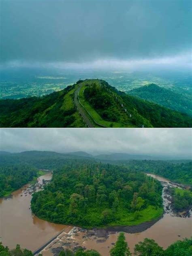
<instances>
[{"instance_id":1,"label":"distant hazy forested hills behind the river-bend mound, under pale sky","mask_svg":"<svg viewBox=\"0 0 192 256\"><path fill-rule=\"evenodd\" d=\"M81 156L82 155L82 156ZM116 159L129 160L116 160ZM9 164L30 164L38 169L57 170L65 163L73 161L78 162L87 159L89 162L102 161L110 164L124 165L126 168L134 171L148 172L160 175L172 181L192 185L192 162L186 161L162 161L162 160L131 160L134 155L112 154L98 155L95 158L90 154L76 152L60 154L51 151L25 151L21 153L0 152L0 166ZM135 158L141 158L136 155ZM145 156L149 158L149 156ZM141 158L142 159L142 158Z\"/></svg>"}]
</instances>

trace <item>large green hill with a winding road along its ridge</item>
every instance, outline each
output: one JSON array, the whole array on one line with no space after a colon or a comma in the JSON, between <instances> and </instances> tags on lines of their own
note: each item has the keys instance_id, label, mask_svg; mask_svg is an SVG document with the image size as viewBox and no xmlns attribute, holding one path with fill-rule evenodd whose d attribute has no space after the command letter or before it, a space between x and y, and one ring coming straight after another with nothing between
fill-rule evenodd
<instances>
[{"instance_id":1,"label":"large green hill with a winding road along its ridge","mask_svg":"<svg viewBox=\"0 0 192 256\"><path fill-rule=\"evenodd\" d=\"M191 127L192 118L119 92L106 81L79 80L43 97L0 100L0 127Z\"/></svg>"}]
</instances>

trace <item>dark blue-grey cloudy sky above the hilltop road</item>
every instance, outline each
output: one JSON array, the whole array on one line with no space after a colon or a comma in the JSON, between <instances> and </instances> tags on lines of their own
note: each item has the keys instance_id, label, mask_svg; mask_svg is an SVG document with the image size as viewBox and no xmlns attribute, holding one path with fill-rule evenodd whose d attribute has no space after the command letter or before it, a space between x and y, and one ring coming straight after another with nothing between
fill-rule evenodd
<instances>
[{"instance_id":1,"label":"dark blue-grey cloudy sky above the hilltop road","mask_svg":"<svg viewBox=\"0 0 192 256\"><path fill-rule=\"evenodd\" d=\"M191 0L0 0L1 66L191 64Z\"/></svg>"}]
</instances>

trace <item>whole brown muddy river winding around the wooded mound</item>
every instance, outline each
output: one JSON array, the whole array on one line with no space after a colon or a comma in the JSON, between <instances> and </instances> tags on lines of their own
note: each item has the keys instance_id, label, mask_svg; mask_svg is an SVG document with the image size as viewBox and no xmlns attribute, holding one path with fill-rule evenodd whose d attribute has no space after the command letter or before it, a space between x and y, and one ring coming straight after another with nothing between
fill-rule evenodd
<instances>
[{"instance_id":1,"label":"whole brown muddy river winding around the wooded mound","mask_svg":"<svg viewBox=\"0 0 192 256\"><path fill-rule=\"evenodd\" d=\"M157 175L151 176L162 181L164 188L170 184L167 179ZM51 174L39 177L39 184L42 183L43 179L51 179ZM73 227L49 223L33 216L29 209L31 194L26 193L26 188L27 186L13 192L12 198L0 200L0 239L4 245L10 248L19 243L21 247L34 251L64 229L63 237L60 235L61 239L57 239L56 243L52 243L52 247L49 245L42 252L43 256L51 256L53 255L53 248L61 247L62 242L64 244L64 242L69 241L68 238L66 239L66 233L72 232ZM163 190L162 197L165 208L167 200L164 196L166 194ZM81 231L78 232L78 235L77 233L72 234L73 242L75 241L87 249L98 250L101 255L108 256L109 250L113 246L111 243L115 243L119 233L109 233L108 237L100 238L102 242L98 242L98 238L94 236L83 238L84 232ZM141 233L126 233L125 235L132 252L134 245L143 241L145 237L156 240L160 246L166 248L178 239L192 236L192 217L176 217L171 209L166 209L163 218L147 230Z\"/></svg>"}]
</instances>

